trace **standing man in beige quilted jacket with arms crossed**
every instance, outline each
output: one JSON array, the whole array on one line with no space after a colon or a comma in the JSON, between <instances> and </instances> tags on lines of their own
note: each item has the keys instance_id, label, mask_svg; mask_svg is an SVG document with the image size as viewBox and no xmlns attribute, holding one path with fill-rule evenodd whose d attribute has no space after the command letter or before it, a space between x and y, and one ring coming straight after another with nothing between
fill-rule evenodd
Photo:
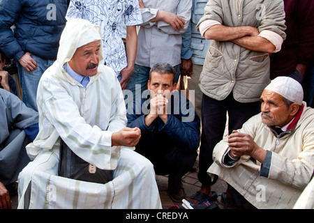
<instances>
[{"instance_id":1,"label":"standing man in beige quilted jacket with arms crossed","mask_svg":"<svg viewBox=\"0 0 314 223\"><path fill-rule=\"evenodd\" d=\"M269 52L285 39L281 0L209 0L197 24L211 40L202 73L202 139L198 178L202 183L191 203L210 199L214 183L207 174L214 146L223 139L226 115L229 134L259 112L262 90L269 84Z\"/></svg>"}]
</instances>

